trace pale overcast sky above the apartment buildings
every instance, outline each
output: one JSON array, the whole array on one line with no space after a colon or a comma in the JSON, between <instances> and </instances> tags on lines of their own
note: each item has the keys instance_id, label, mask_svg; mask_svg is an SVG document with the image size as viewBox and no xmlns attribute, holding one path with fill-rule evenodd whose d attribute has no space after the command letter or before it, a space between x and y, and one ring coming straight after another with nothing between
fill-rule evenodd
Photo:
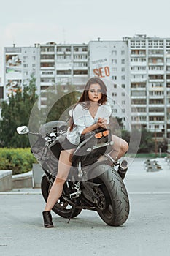
<instances>
[{"instance_id":1,"label":"pale overcast sky above the apartment buildings","mask_svg":"<svg viewBox=\"0 0 170 256\"><path fill-rule=\"evenodd\" d=\"M13 43L88 43L98 37L122 40L135 34L170 37L169 10L169 0L3 1L0 72L4 47Z\"/></svg>"}]
</instances>

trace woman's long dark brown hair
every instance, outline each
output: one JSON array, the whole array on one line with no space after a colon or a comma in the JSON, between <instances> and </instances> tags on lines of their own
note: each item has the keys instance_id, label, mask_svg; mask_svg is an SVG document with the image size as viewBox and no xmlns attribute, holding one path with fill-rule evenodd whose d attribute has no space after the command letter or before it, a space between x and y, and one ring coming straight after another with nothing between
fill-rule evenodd
<instances>
[{"instance_id":1,"label":"woman's long dark brown hair","mask_svg":"<svg viewBox=\"0 0 170 256\"><path fill-rule=\"evenodd\" d=\"M90 108L90 99L88 97L88 90L90 89L90 85L92 85L93 83L98 83L101 86L102 96L101 96L101 99L98 100L98 105L106 104L106 102L107 102L107 86L100 78L95 77L95 78L90 78L88 80L88 82L85 85L85 89L82 92L82 96L80 97L78 102L74 105L74 108L76 108L77 104L79 104L79 103L86 109ZM72 131L72 129L74 127L73 116L70 118L69 124L70 124L69 130Z\"/></svg>"}]
</instances>

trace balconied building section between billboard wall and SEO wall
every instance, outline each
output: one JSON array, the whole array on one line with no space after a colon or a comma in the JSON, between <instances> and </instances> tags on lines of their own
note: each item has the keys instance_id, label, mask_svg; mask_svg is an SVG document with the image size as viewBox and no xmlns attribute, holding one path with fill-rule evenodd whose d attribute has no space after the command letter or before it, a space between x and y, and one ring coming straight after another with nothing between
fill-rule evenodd
<instances>
[{"instance_id":1,"label":"balconied building section between billboard wall and SEO wall","mask_svg":"<svg viewBox=\"0 0 170 256\"><path fill-rule=\"evenodd\" d=\"M88 80L88 45L49 42L36 46L39 51L41 92L54 85L61 85L66 91L68 84L82 91ZM45 102L46 98L42 94L42 107Z\"/></svg>"}]
</instances>

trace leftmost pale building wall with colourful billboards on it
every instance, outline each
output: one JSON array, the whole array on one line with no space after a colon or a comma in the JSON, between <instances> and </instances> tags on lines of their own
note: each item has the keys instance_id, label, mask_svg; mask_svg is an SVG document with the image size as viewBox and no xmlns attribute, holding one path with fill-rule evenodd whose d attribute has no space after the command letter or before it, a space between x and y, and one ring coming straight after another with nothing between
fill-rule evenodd
<instances>
[{"instance_id":1,"label":"leftmost pale building wall with colourful billboards on it","mask_svg":"<svg viewBox=\"0 0 170 256\"><path fill-rule=\"evenodd\" d=\"M4 48L4 99L16 89L29 84L31 75L38 77L38 51L35 47Z\"/></svg>"}]
</instances>

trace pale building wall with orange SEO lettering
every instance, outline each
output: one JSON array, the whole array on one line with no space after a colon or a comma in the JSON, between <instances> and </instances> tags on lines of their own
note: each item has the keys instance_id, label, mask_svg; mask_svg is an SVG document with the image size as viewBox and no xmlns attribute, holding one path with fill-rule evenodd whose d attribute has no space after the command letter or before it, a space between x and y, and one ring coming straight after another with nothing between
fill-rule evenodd
<instances>
[{"instance_id":1,"label":"pale building wall with orange SEO lettering","mask_svg":"<svg viewBox=\"0 0 170 256\"><path fill-rule=\"evenodd\" d=\"M125 129L131 129L127 42L90 41L88 56L90 77L99 76L104 80L113 116L122 118Z\"/></svg>"}]
</instances>

